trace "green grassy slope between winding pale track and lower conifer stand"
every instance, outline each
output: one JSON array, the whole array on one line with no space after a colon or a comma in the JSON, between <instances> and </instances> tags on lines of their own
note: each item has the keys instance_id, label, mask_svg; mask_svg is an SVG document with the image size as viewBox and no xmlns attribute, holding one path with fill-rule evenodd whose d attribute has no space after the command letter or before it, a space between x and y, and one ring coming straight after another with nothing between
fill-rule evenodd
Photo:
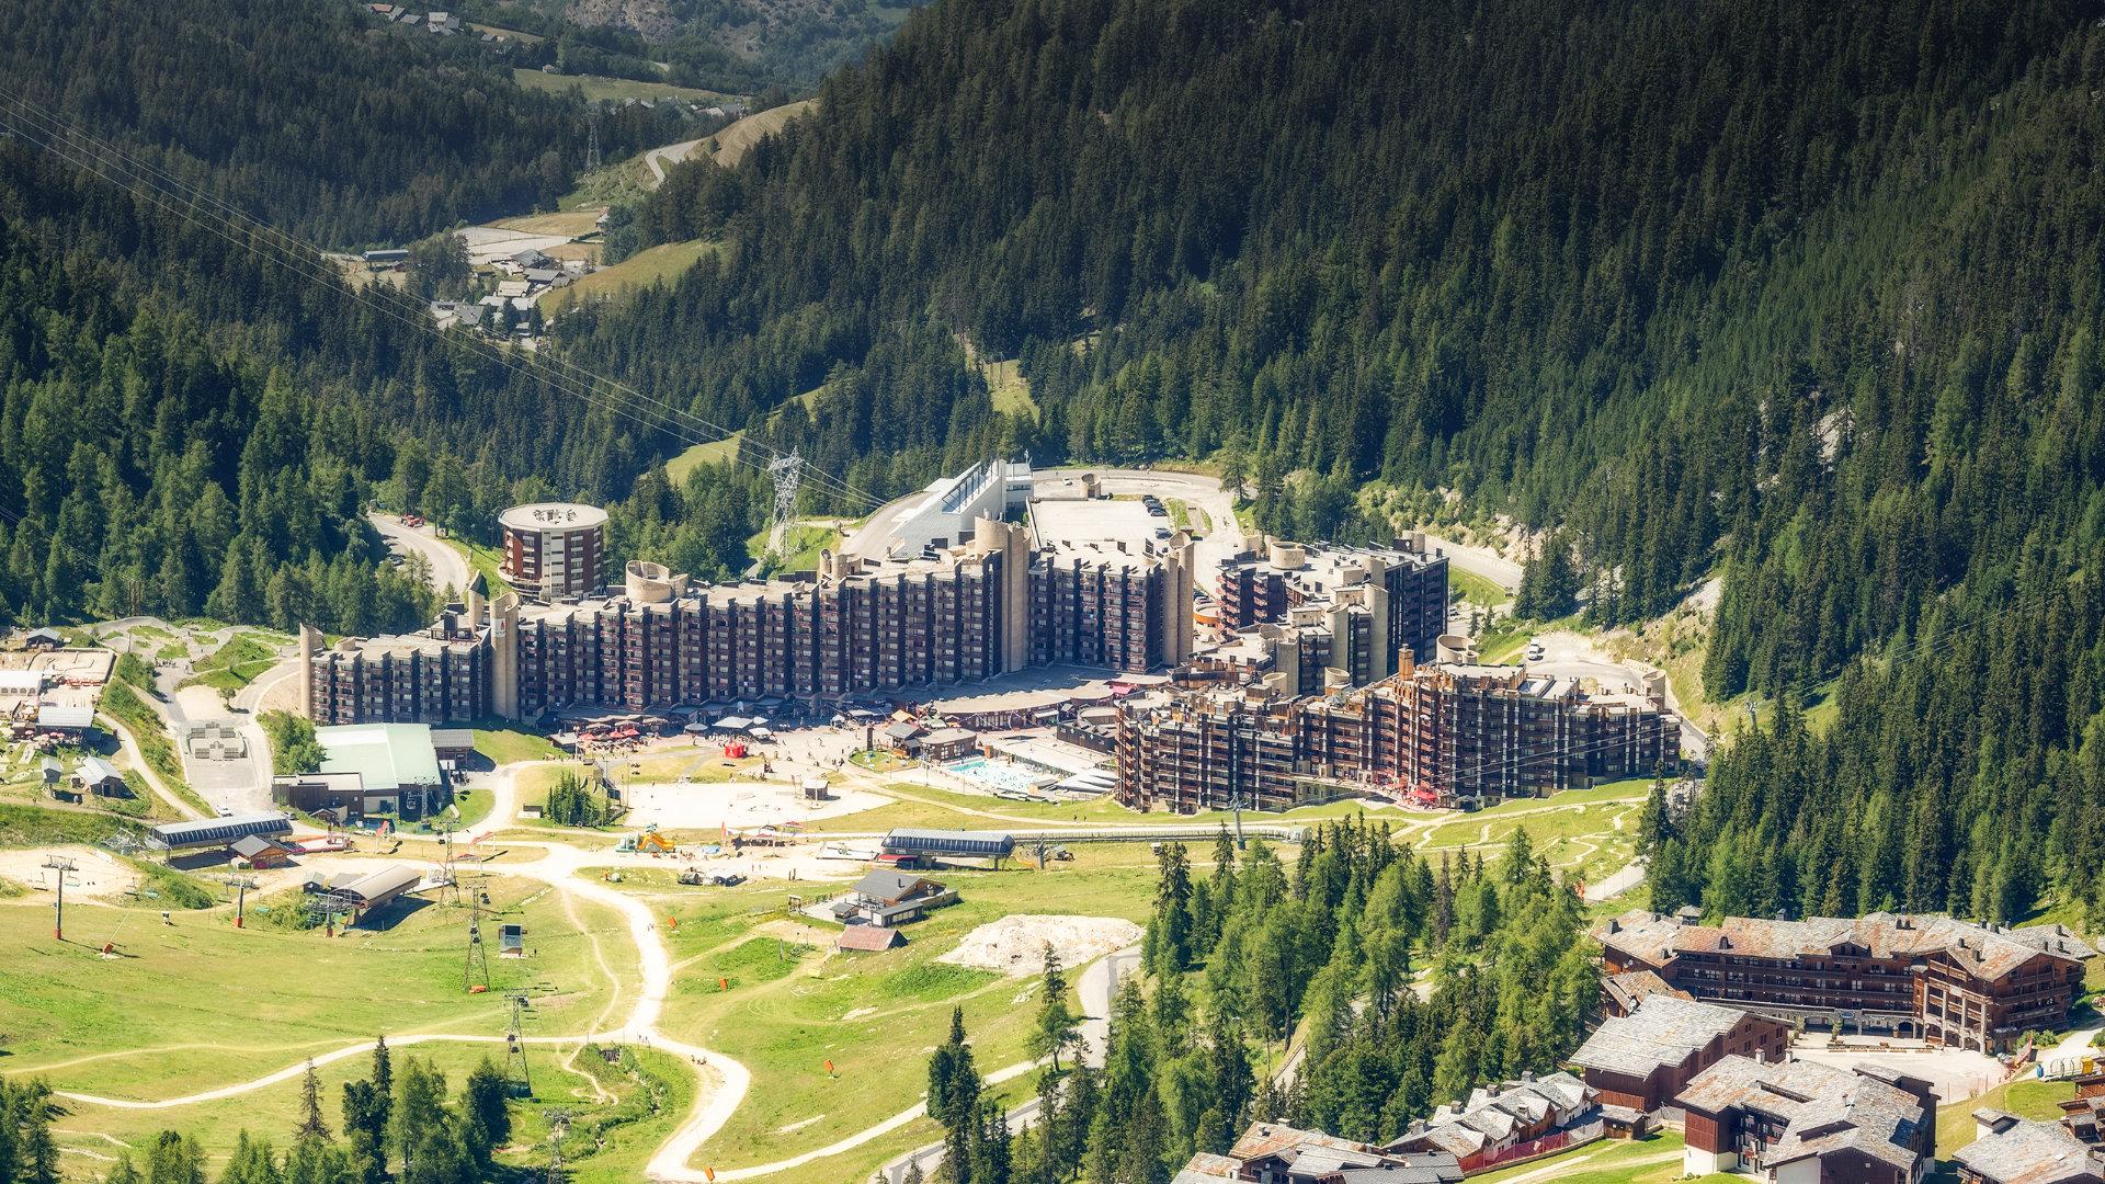
<instances>
[{"instance_id":1,"label":"green grassy slope between winding pale track and lower conifer stand","mask_svg":"<svg viewBox=\"0 0 2105 1184\"><path fill-rule=\"evenodd\" d=\"M663 889L665 876L623 887L648 895L676 923L663 929L680 967L667 1026L737 1058L754 1074L739 1112L695 1161L724 1169L827 1146L918 1102L926 1055L943 1039L951 1007L964 1007L983 1072L1023 1060L1036 978L1010 980L937 956L975 927L1017 912L1141 921L1149 912L1154 860L1139 845L1082 851L1074 864L1046 872L943 872L962 902L907 927L907 946L884 954L836 954L831 927L777 912L787 893L810 895L825 885L762 881L695 893ZM720 988L720 980L730 988ZM834 1062L831 1074L825 1062ZM1027 1087L1027 1079L1017 1085ZM781 1180L859 1180L930 1138L935 1125L920 1119Z\"/></svg>"}]
</instances>

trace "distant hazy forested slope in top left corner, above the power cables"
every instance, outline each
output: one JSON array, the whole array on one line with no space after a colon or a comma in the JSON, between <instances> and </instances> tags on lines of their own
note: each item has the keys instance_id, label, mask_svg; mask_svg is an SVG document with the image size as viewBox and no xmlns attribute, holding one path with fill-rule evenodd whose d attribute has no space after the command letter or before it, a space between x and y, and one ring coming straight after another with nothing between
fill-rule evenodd
<instances>
[{"instance_id":1,"label":"distant hazy forested slope in top left corner, above the power cables","mask_svg":"<svg viewBox=\"0 0 2105 1184\"><path fill-rule=\"evenodd\" d=\"M554 209L585 112L522 91L463 36L389 29L341 0L0 0L0 93L324 246L406 242ZM680 139L667 112L602 120L619 158Z\"/></svg>"}]
</instances>

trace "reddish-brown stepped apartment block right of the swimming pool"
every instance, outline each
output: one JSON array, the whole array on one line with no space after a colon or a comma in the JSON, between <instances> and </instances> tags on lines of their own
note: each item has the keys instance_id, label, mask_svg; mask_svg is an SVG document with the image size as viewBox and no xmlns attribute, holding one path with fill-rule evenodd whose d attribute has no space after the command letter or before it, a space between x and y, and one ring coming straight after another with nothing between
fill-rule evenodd
<instances>
[{"instance_id":1,"label":"reddish-brown stepped apartment block right of the swimming pool","mask_svg":"<svg viewBox=\"0 0 2105 1184\"><path fill-rule=\"evenodd\" d=\"M1330 695L1210 685L1122 708L1118 796L1179 813L1292 809L1347 790L1480 805L1680 765L1680 725L1657 699L1587 695L1518 666L1398 662Z\"/></svg>"}]
</instances>

